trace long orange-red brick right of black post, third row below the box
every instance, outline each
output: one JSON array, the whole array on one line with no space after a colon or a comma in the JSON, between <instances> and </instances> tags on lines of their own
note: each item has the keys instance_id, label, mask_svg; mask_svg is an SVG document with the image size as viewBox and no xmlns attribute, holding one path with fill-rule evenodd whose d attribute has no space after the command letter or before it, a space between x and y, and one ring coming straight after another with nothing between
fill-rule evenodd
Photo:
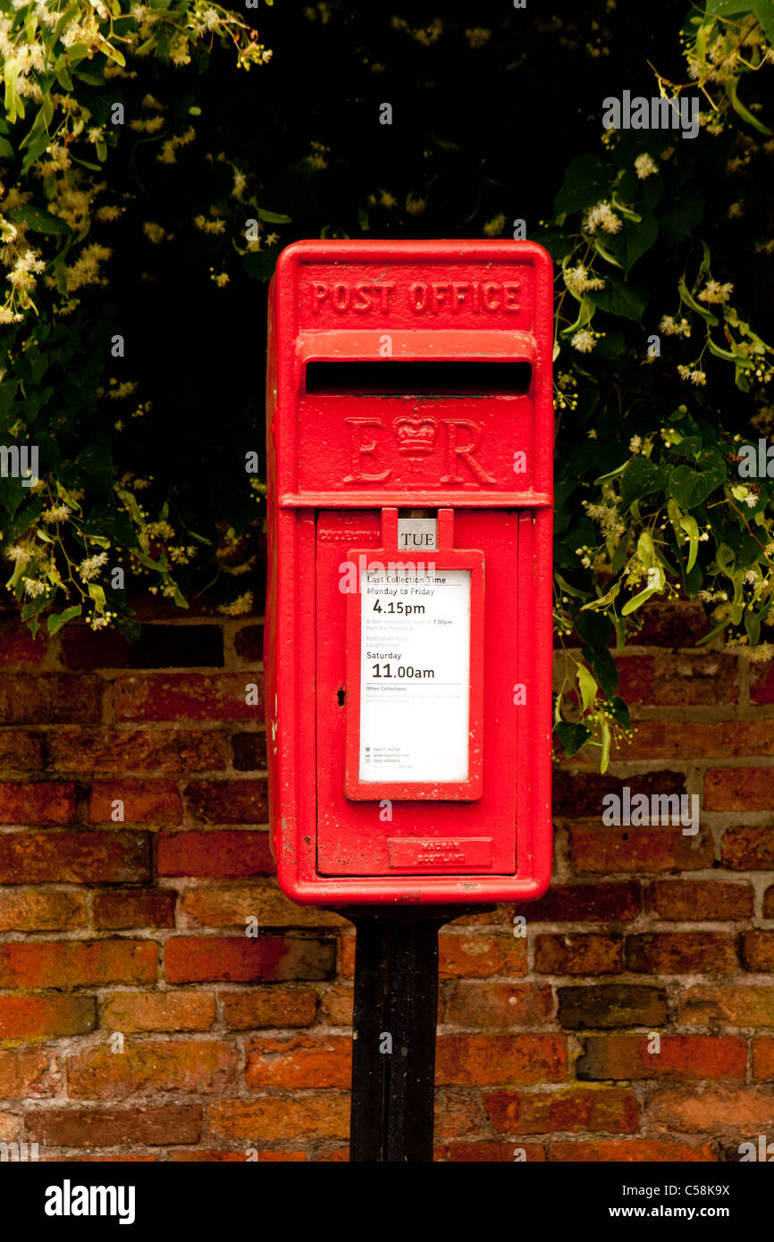
<instances>
[{"instance_id":1,"label":"long orange-red brick right of black post, third row below the box","mask_svg":"<svg viewBox=\"0 0 774 1242\"><path fill-rule=\"evenodd\" d=\"M440 1035L436 1042L439 1086L521 1086L565 1077L560 1035Z\"/></svg>"}]
</instances>

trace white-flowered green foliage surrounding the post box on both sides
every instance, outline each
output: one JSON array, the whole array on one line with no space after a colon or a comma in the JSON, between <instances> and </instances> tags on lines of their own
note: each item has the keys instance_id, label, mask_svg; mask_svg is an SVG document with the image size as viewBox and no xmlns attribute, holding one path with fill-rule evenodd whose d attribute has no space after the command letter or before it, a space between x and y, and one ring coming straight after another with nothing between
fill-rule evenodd
<instances>
[{"instance_id":1,"label":"white-flowered green foliage surrounding the post box on both sides","mask_svg":"<svg viewBox=\"0 0 774 1242\"><path fill-rule=\"evenodd\" d=\"M610 647L636 637L650 601L701 600L712 637L754 658L774 652L765 641L772 482L739 469L740 447L774 430L772 323L762 324L755 309L774 252L760 193L773 150L774 4L686 4L685 79L665 76L653 58L653 93L701 99L696 139L646 129L598 137L598 112L590 137L584 123L564 148L554 128L550 147L564 150L562 163L527 179L499 137L502 108L471 140L461 116L468 106L452 108L465 92L450 92L445 57L460 81L480 72L487 99L496 79L533 73L542 88L547 46L552 55L564 48L563 63L578 62L575 88L606 52L622 55L622 40L634 46L626 72L651 73L626 15L615 45L608 26L615 6L591 0L588 14L571 10L567 21L514 27L528 16L506 17L501 4L483 0L472 27L421 5L410 21L374 9L353 22L345 0L311 4L278 42L271 72L278 60L291 62L303 20L326 66L318 98L321 82L328 89L343 73L353 81L345 112L304 103L308 116L293 125L282 111L287 93L272 97L278 119L255 93L232 103L244 78L235 68L271 55L244 12L206 0L130 7L128 0L0 0L0 442L40 448L35 486L0 478L0 543L7 586L34 628L42 619L56 632L78 616L93 627L130 627L116 568L179 606L186 584L212 578L232 587L225 611L252 604L250 591L239 592L256 560L250 530L263 486L246 473L241 486L232 473L219 482L216 452L221 424L240 450L261 442L255 402L248 412L241 401L236 411L224 402L209 417L199 472L189 457L185 466L175 457L176 468L164 473L165 457L184 453L180 442L193 438L170 432L178 381L170 385L164 368L149 375L122 363L125 309L119 318L108 279L142 270L144 314L158 337L155 288L176 289L185 277L186 288L205 292L183 310L215 330L216 299L226 307L251 288L241 304L252 315L265 289L250 282L266 282L280 246L296 236L497 237L513 215L526 215L557 277L558 739L569 754L598 746L604 769L626 738ZM678 63L666 27L660 37L667 67ZM292 63L286 81L298 96ZM401 145L390 155L386 127L376 140L373 125L355 125L348 155L348 127L378 108L363 102L370 83L376 101L409 81L419 111L404 106L412 120ZM437 82L446 83L444 106L434 111ZM240 120L248 103L261 109L255 124ZM576 111L568 106L560 116ZM519 150L523 138L517 128ZM499 163L496 147L506 152ZM522 206L517 195L529 191ZM236 318L231 312L231 330ZM247 340L256 335L253 327ZM262 355L252 350L260 384ZM237 368L231 338L214 354L230 392L231 373L247 368Z\"/></svg>"}]
</instances>

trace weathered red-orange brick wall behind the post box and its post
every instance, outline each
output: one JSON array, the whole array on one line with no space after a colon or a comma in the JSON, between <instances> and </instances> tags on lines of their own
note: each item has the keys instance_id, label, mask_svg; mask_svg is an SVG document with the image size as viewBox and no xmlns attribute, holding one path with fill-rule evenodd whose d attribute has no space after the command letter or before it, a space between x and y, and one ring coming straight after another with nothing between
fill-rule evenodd
<instances>
[{"instance_id":1,"label":"weathered red-orange brick wall behind the post box and its post","mask_svg":"<svg viewBox=\"0 0 774 1242\"><path fill-rule=\"evenodd\" d=\"M441 933L439 1159L774 1139L774 666L703 630L655 610L620 660L625 761L558 765L527 936L506 905ZM354 940L272 878L260 653L258 619L206 610L158 612L132 647L0 620L0 1141L345 1159ZM698 833L605 827L622 785L699 794Z\"/></svg>"}]
</instances>

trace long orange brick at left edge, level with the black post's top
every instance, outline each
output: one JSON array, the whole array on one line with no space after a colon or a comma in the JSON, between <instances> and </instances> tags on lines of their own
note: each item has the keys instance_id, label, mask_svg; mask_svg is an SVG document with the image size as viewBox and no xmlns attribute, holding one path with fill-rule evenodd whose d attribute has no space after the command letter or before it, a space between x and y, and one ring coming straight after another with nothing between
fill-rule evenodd
<instances>
[{"instance_id":1,"label":"long orange brick at left edge, level with the black post's top","mask_svg":"<svg viewBox=\"0 0 774 1242\"><path fill-rule=\"evenodd\" d=\"M157 977L149 940L57 940L0 944L0 987L147 984Z\"/></svg>"}]
</instances>

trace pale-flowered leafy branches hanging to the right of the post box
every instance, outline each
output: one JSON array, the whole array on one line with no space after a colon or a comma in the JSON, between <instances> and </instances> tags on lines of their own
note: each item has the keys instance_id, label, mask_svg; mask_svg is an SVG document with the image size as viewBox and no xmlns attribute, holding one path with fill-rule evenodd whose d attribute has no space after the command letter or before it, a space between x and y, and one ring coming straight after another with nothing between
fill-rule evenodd
<instances>
[{"instance_id":1,"label":"pale-flowered leafy branches hanging to the right of the post box","mask_svg":"<svg viewBox=\"0 0 774 1242\"><path fill-rule=\"evenodd\" d=\"M767 5L694 6L683 31L690 81L657 76L662 96L703 91L711 108L702 116L697 158L719 143L732 173L765 159L755 134L770 130L740 104L738 88L773 57L768 16ZM739 120L744 128L737 130ZM734 306L733 281L713 277L702 230L707 204L696 189L687 193L691 174L699 181L697 158L685 139L668 138L608 132L604 155L581 155L568 166L547 224L562 273L554 349L559 416L579 416L591 441L604 438L594 456L610 467L590 478L588 453L575 451L569 460L559 453L560 494L570 513L558 523L557 625L564 641L583 636L583 619L593 614L612 627L620 647L636 633L652 597L698 599L712 609L708 637L723 633L733 648L765 657L774 653L760 643L774 599L774 493L768 477L754 483L739 477L742 437L706 392L718 365L731 365L737 390L764 402L773 350ZM770 248L762 242L764 252ZM672 276L671 315L658 314L663 282L649 279L645 256L653 273ZM611 409L600 392L598 360L612 335ZM652 378L656 365L671 365L675 375L678 350L685 360L675 379L688 389L685 401L670 399ZM773 412L764 405L754 426L768 430ZM583 510L589 520L578 520ZM605 633L598 650L606 652L608 640ZM580 660L565 653L555 718L567 717L558 723L565 750L598 745L604 770L611 733L625 737L629 722L616 712L615 687L591 676L598 662L593 645Z\"/></svg>"}]
</instances>

